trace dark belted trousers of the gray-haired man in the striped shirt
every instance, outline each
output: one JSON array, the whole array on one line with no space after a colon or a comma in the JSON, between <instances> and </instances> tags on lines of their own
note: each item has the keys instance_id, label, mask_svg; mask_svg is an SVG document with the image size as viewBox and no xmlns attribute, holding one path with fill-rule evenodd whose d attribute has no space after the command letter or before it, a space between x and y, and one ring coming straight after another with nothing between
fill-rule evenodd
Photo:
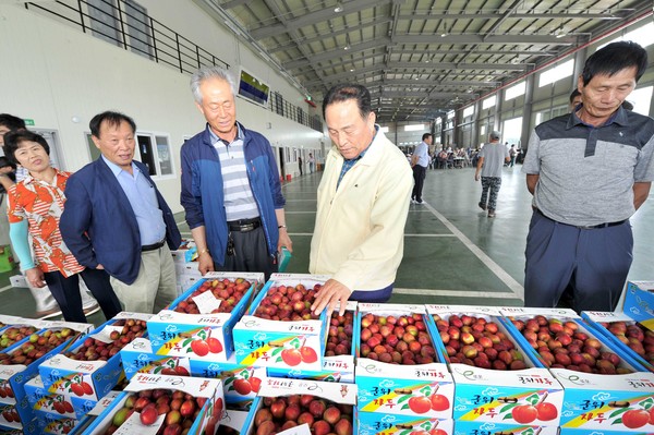
<instances>
[{"instance_id":1,"label":"dark belted trousers of the gray-haired man in the striped shirt","mask_svg":"<svg viewBox=\"0 0 654 435\"><path fill-rule=\"evenodd\" d=\"M230 231L234 241L233 255L225 256L225 265L214 265L217 271L263 271L266 280L277 273L277 252L268 255L268 244L263 227L252 231ZM277 249L277 246L275 246Z\"/></svg>"}]
</instances>

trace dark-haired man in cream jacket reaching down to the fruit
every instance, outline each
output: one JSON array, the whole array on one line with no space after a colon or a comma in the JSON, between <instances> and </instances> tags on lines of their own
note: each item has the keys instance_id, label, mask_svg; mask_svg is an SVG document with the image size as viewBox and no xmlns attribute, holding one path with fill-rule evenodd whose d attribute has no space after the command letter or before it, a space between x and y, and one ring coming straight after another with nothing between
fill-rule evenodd
<instances>
[{"instance_id":1,"label":"dark-haired man in cream jacket reaching down to the fruit","mask_svg":"<svg viewBox=\"0 0 654 435\"><path fill-rule=\"evenodd\" d=\"M404 154L375 124L361 85L329 89L323 114L334 147L318 186L312 274L331 277L312 306L329 312L349 299L385 302L403 254L413 176Z\"/></svg>"}]
</instances>

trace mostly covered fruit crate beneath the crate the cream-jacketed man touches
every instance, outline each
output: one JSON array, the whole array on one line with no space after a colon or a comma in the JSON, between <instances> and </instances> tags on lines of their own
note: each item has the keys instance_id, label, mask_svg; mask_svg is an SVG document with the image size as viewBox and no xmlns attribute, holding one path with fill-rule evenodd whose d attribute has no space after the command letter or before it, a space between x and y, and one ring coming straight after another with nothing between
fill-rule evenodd
<instances>
[{"instance_id":1,"label":"mostly covered fruit crate beneath the crate the cream-jacketed man touches","mask_svg":"<svg viewBox=\"0 0 654 435\"><path fill-rule=\"evenodd\" d=\"M331 313L322 370L268 367L268 376L353 384L355 318L356 301L348 301L343 316L339 315L339 309Z\"/></svg>"}]
</instances>

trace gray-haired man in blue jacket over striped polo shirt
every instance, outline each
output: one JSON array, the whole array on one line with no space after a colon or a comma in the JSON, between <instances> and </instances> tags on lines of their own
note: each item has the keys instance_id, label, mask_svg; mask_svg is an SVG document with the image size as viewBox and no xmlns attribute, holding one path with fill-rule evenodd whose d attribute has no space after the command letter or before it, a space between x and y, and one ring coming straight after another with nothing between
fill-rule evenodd
<instances>
[{"instance_id":1,"label":"gray-haired man in blue jacket over striped polo shirt","mask_svg":"<svg viewBox=\"0 0 654 435\"><path fill-rule=\"evenodd\" d=\"M191 89L207 124L182 146L181 203L199 271L263 271L268 278L281 247L292 251L272 147L237 122L237 87L226 70L198 70Z\"/></svg>"}]
</instances>

